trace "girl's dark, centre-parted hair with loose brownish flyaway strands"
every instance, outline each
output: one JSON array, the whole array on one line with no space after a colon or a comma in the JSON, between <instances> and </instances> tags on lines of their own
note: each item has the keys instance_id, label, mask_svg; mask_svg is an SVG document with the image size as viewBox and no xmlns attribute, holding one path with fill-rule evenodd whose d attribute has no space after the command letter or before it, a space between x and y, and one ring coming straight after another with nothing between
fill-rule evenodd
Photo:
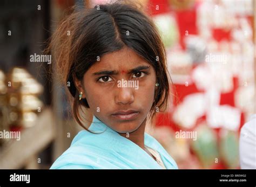
<instances>
[{"instance_id":1,"label":"girl's dark, centre-parted hair with loose brownish flyaway strands","mask_svg":"<svg viewBox=\"0 0 256 187\"><path fill-rule=\"evenodd\" d=\"M97 57L125 46L149 62L156 71L159 86L149 116L155 115L156 107L165 110L169 97L166 53L156 26L141 11L142 7L118 1L96 5L92 9L74 10L53 33L49 49L63 83L70 83L73 116L80 126L87 129L80 121L78 107L89 108L89 105L86 99L79 101L73 76L82 80Z\"/></svg>"}]
</instances>

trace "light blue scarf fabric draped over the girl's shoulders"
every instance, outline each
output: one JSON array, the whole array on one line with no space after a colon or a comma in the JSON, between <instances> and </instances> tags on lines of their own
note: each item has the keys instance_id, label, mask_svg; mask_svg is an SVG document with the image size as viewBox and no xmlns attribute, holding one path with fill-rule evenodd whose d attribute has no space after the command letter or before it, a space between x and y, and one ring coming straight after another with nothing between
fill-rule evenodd
<instances>
[{"instance_id":1,"label":"light blue scarf fabric draped over the girl's shoulders","mask_svg":"<svg viewBox=\"0 0 256 187\"><path fill-rule=\"evenodd\" d=\"M96 116L89 130L100 134L80 131L50 169L162 169L145 150L107 127ZM144 138L147 147L158 151L167 169L178 169L155 138L147 133Z\"/></svg>"}]
</instances>

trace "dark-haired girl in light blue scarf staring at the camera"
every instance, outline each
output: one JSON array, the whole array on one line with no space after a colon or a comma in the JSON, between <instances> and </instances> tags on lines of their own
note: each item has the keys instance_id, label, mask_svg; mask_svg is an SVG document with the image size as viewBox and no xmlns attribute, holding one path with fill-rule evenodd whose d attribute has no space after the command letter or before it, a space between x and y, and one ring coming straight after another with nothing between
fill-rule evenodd
<instances>
[{"instance_id":1,"label":"dark-haired girl in light blue scarf staring at the camera","mask_svg":"<svg viewBox=\"0 0 256 187\"><path fill-rule=\"evenodd\" d=\"M177 169L145 133L146 121L166 108L169 77L156 26L138 6L116 2L76 10L53 34L50 48L69 83L73 116L85 129L51 169ZM93 113L89 129L81 107Z\"/></svg>"}]
</instances>

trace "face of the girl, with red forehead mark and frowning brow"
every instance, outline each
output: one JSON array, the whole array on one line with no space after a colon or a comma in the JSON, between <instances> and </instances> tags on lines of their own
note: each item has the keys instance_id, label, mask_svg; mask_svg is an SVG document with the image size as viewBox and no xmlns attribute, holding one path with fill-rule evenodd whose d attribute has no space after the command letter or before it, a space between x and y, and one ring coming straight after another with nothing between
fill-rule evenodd
<instances>
[{"instance_id":1,"label":"face of the girl, with red forehead mark and frowning brow","mask_svg":"<svg viewBox=\"0 0 256 187\"><path fill-rule=\"evenodd\" d=\"M118 133L131 133L150 112L155 85L153 66L125 47L92 65L81 89L93 115Z\"/></svg>"}]
</instances>

